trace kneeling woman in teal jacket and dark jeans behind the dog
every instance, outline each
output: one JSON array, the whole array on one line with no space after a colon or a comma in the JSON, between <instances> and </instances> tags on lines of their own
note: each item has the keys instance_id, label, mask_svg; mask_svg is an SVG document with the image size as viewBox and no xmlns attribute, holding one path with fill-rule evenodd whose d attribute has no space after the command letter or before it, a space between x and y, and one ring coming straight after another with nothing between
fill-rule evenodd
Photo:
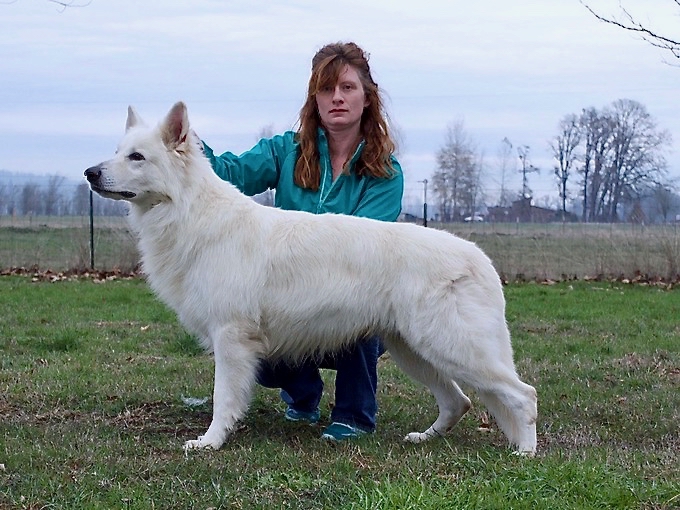
<instances>
[{"instance_id":1,"label":"kneeling woman in teal jacket and dark jeans behind the dog","mask_svg":"<svg viewBox=\"0 0 680 510\"><path fill-rule=\"evenodd\" d=\"M396 221L401 212L403 175L380 89L367 55L354 43L329 44L314 55L296 132L260 140L240 156L216 156L205 144L204 150L222 179L251 196L274 189L275 205L282 209L383 221ZM375 430L381 353L380 339L367 337L323 359L265 361L258 382L281 388L286 419L313 424L323 391L319 368L336 370L335 406L322 437L355 438Z\"/></svg>"}]
</instances>

